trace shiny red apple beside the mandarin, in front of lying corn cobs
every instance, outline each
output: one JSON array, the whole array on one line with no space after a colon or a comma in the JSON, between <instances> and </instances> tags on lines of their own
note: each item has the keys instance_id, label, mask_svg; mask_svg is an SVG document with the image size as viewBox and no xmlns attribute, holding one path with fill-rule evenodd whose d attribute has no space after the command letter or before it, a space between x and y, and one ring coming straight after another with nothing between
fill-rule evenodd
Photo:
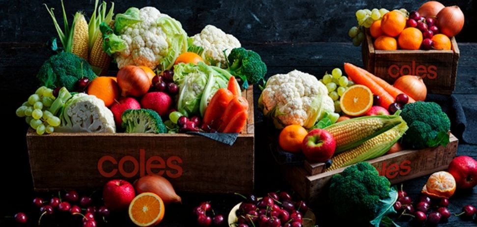
<instances>
[{"instance_id":1,"label":"shiny red apple beside the mandarin, in front of lying corn cobs","mask_svg":"<svg viewBox=\"0 0 477 227\"><path fill-rule=\"evenodd\" d=\"M324 129L309 131L302 142L303 154L313 162L326 162L333 156L335 149L335 139Z\"/></svg>"}]
</instances>

